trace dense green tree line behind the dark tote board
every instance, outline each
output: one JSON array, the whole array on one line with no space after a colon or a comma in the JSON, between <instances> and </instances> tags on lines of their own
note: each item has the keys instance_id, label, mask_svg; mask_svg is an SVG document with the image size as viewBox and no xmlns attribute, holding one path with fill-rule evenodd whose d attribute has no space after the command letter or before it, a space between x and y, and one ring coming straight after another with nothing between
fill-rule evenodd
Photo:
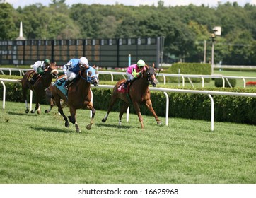
<instances>
[{"instance_id":1,"label":"dense green tree line behind the dark tote board","mask_svg":"<svg viewBox=\"0 0 256 198\"><path fill-rule=\"evenodd\" d=\"M15 9L2 3L0 40L15 40L21 21L28 40L165 37L165 62L203 62L204 54L209 62L211 34L221 26L214 42L214 64L256 65L256 6L251 4L165 6L158 1L151 6L67 6L65 0L52 0L48 6Z\"/></svg>"}]
</instances>

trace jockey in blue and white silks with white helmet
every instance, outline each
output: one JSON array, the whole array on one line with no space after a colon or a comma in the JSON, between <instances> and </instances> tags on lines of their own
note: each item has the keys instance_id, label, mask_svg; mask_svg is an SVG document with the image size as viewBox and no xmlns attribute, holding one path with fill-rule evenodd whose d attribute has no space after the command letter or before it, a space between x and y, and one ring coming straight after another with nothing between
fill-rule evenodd
<instances>
[{"instance_id":1,"label":"jockey in blue and white silks with white helmet","mask_svg":"<svg viewBox=\"0 0 256 198\"><path fill-rule=\"evenodd\" d=\"M88 59L86 59L86 57L81 57L80 59L71 59L67 64L63 66L63 71L66 79L64 88L66 88L66 90L68 89L71 81L73 81L74 78L78 76L81 67L84 67L86 69L89 68Z\"/></svg>"}]
</instances>

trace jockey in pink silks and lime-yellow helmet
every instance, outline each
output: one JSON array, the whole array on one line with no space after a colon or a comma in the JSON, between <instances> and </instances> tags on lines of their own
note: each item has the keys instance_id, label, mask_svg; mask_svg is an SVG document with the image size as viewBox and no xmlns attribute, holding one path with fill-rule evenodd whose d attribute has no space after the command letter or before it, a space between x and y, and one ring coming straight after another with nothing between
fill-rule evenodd
<instances>
[{"instance_id":1,"label":"jockey in pink silks and lime-yellow helmet","mask_svg":"<svg viewBox=\"0 0 256 198\"><path fill-rule=\"evenodd\" d=\"M130 66L128 66L126 74L127 74L127 81L124 83L123 88L126 89L129 82L133 81L134 79L138 78L139 76L141 76L141 71L145 70L146 64L144 62L144 60L139 60L137 62L137 64L132 64Z\"/></svg>"}]
</instances>

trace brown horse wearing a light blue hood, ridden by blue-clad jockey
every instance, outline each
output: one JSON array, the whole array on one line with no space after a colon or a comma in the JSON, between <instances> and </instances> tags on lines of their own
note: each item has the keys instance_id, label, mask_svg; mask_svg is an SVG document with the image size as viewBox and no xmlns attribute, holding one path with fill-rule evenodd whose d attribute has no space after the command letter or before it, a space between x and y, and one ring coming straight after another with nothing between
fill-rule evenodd
<instances>
[{"instance_id":1,"label":"brown horse wearing a light blue hood, ridden by blue-clad jockey","mask_svg":"<svg viewBox=\"0 0 256 198\"><path fill-rule=\"evenodd\" d=\"M76 110L77 109L89 109L92 111L92 117L90 124L87 125L86 129L90 130L91 125L93 124L93 119L95 116L96 110L93 107L93 103L91 101L91 84L94 86L98 86L98 76L95 72L95 67L90 67L89 69L81 68L79 71L79 75L74 79L73 83L70 84L68 91L65 92L63 85L59 86L58 82L62 81L63 76L59 76L54 83L54 86L50 86L47 92L47 95L50 95L50 110L54 106L54 101L58 107L59 113L65 120L65 127L69 127L69 121L75 124L76 132L81 132L78 127L78 123L76 122ZM50 92L50 93L49 93ZM69 111L71 116L69 116L69 121L64 115L61 99L64 100L69 105ZM46 110L45 112L50 112L50 110Z\"/></svg>"}]
</instances>

